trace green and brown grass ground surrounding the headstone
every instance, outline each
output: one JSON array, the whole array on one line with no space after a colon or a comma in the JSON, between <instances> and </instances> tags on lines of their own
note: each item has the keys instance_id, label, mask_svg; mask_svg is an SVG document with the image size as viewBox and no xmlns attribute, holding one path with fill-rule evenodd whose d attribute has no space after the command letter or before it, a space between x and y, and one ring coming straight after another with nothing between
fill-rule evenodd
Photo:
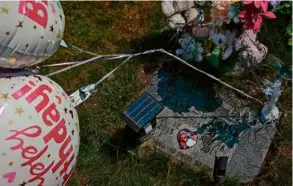
<instances>
[{"instance_id":1,"label":"green and brown grass ground surrounding the headstone","mask_svg":"<svg viewBox=\"0 0 293 186\"><path fill-rule=\"evenodd\" d=\"M64 40L97 54L134 53L161 48L166 46L172 36L163 31L166 20L161 13L160 2L61 3L66 16ZM258 37L268 47L269 54L279 57L287 64L292 63L292 50L287 46L287 38L283 36L286 30L283 19L270 21L262 29ZM77 50L60 47L45 64L90 57ZM143 69L144 65L154 64L155 68L160 57L152 55L133 58L99 85L98 91L87 101L78 106L81 144L77 167L68 185L211 185L209 176L203 170L195 172L162 154L138 157L137 148L130 148L122 142L124 123L121 113L143 92L148 82L152 68ZM267 63L269 62L270 58L267 59ZM119 63L121 60L97 61L54 76L53 79L70 94L82 86L98 81ZM48 71L52 69L42 73ZM273 73L274 70L263 66L237 78L222 76L221 79L265 101L254 75L269 78ZM228 178L222 185L292 184L291 92L289 81L285 83L278 102L283 113L278 133L259 176L248 184Z\"/></svg>"}]
</instances>

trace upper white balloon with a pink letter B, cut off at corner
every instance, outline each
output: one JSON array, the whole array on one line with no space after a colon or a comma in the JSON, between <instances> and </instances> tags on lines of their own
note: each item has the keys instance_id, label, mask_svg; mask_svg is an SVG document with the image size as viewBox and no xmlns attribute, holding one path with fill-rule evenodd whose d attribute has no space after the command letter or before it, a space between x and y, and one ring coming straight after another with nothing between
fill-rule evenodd
<instances>
[{"instance_id":1,"label":"upper white balloon with a pink letter B, cut off at corner","mask_svg":"<svg viewBox=\"0 0 293 186\"><path fill-rule=\"evenodd\" d=\"M0 67L44 61L59 47L64 27L59 1L0 1Z\"/></svg>"}]
</instances>

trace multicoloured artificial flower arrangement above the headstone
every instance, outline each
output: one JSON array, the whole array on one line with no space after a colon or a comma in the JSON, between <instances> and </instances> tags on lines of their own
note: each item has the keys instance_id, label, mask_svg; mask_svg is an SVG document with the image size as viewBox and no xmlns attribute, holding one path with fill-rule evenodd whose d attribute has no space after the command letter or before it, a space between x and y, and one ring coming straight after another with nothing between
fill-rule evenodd
<instances>
[{"instance_id":1,"label":"multicoloured artificial flower arrangement above the headstone","mask_svg":"<svg viewBox=\"0 0 293 186\"><path fill-rule=\"evenodd\" d=\"M198 2L195 7L191 8L197 8L200 10L198 12L202 12L201 5L204 3ZM255 41L256 34L261 31L261 26L266 19L276 18L273 9L280 5L282 5L282 2L278 0L212 1L210 22L203 24L202 21L194 20L184 24L184 18L181 20L178 30L183 34L178 40L181 48L176 50L176 55L189 62L206 61L212 67L218 68L221 61L227 60L232 53L239 51L241 48L247 48L245 45L249 44L243 41L244 36L241 37L241 35L251 33L255 36L247 37L253 40L252 43L258 43ZM172 24L174 28L175 23L172 22ZM254 39L251 39L252 37ZM251 48L249 52L265 48L261 52L256 51L260 53L261 57L254 58L253 60L258 61L252 62L252 64L259 64L259 61L265 58L267 49L265 46ZM254 54L252 53L250 56L253 58Z\"/></svg>"}]
</instances>

